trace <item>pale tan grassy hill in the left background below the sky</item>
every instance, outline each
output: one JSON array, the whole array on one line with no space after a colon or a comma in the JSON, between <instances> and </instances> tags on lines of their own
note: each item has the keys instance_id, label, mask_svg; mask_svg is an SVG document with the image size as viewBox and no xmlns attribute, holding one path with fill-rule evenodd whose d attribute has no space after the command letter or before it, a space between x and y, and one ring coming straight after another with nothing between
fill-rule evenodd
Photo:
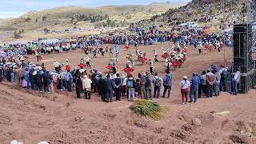
<instances>
[{"instance_id":1,"label":"pale tan grassy hill in the left background below the sky","mask_svg":"<svg viewBox=\"0 0 256 144\"><path fill-rule=\"evenodd\" d=\"M23 14L19 18L2 23L0 30L42 30L44 27L71 26L70 23L78 22L104 22L107 19L115 22L138 22L145 18L151 18L155 14L162 14L166 10L186 5L186 2L151 3L150 5L130 6L100 6L86 8L81 6L57 7L49 10L33 10Z\"/></svg>"}]
</instances>

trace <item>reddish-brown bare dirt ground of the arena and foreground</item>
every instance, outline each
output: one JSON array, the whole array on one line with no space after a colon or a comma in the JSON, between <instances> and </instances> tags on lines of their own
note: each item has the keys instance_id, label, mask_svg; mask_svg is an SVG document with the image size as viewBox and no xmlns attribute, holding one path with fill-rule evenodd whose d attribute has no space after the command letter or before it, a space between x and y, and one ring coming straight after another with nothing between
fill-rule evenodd
<instances>
[{"instance_id":1,"label":"reddish-brown bare dirt ground of the arena and foreground","mask_svg":"<svg viewBox=\"0 0 256 144\"><path fill-rule=\"evenodd\" d=\"M155 46L140 46L153 57L153 50L161 55L162 47L170 43ZM130 49L134 54L134 48ZM107 54L106 54L107 55ZM118 66L125 67L126 50L122 50ZM63 54L50 54L43 57L48 69L52 62L65 62L68 58L72 66L84 57L82 51ZM135 56L134 56L135 57ZM92 59L94 69L106 71L104 67L110 58ZM159 58L161 59L161 58ZM232 61L232 50L226 49L227 63ZM33 62L35 58L31 57ZM57 91L56 94L38 94L24 90L15 84L2 82L0 86L0 143L18 140L28 144L41 141L53 143L256 143L256 106L255 92L248 94L222 93L216 98L202 98L195 104L181 105L178 82L183 75L192 72L201 73L210 64L220 65L224 61L223 51L198 55L197 50L190 50L187 61L180 69L172 70L174 76L171 98L154 100L165 107L164 118L154 121L139 118L130 112L127 102L104 103L94 94L90 101L76 99L74 93ZM149 66L135 62L135 72L145 72ZM164 62L154 63L154 71L164 74ZM228 111L226 114L219 112Z\"/></svg>"}]
</instances>

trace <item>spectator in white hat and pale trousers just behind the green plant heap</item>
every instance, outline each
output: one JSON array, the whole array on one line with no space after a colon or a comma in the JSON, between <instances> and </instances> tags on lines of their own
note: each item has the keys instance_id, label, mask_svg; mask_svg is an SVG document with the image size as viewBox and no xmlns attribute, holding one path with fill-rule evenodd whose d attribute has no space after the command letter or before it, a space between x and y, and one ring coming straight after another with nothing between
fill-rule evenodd
<instances>
[{"instance_id":1,"label":"spectator in white hat and pale trousers just behind the green plant heap","mask_svg":"<svg viewBox=\"0 0 256 144\"><path fill-rule=\"evenodd\" d=\"M132 77L132 75L128 76L126 86L128 89L128 101L134 102L136 82L134 81L134 78Z\"/></svg>"}]
</instances>

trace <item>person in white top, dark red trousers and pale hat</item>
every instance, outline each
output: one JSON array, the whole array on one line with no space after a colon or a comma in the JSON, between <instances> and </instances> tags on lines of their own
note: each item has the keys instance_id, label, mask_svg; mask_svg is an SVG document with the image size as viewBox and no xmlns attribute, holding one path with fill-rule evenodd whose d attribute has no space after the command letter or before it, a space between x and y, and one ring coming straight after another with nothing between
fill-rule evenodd
<instances>
[{"instance_id":1,"label":"person in white top, dark red trousers and pale hat","mask_svg":"<svg viewBox=\"0 0 256 144\"><path fill-rule=\"evenodd\" d=\"M182 105L184 105L188 101L188 94L190 91L190 81L187 80L186 76L183 77L182 82L179 83L179 86L181 87L182 93Z\"/></svg>"}]
</instances>

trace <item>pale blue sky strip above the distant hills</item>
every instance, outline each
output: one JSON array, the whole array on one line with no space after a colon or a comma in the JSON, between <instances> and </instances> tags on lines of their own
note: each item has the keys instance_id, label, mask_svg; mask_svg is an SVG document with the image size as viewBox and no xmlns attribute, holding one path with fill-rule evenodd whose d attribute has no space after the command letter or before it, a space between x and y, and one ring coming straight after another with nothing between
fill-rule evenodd
<instances>
[{"instance_id":1,"label":"pale blue sky strip above the distant hills","mask_svg":"<svg viewBox=\"0 0 256 144\"><path fill-rule=\"evenodd\" d=\"M181 1L189 0L169 0L169 2ZM166 0L0 0L0 18L15 18L30 10L45 10L60 6L146 5L151 2L166 2Z\"/></svg>"}]
</instances>

